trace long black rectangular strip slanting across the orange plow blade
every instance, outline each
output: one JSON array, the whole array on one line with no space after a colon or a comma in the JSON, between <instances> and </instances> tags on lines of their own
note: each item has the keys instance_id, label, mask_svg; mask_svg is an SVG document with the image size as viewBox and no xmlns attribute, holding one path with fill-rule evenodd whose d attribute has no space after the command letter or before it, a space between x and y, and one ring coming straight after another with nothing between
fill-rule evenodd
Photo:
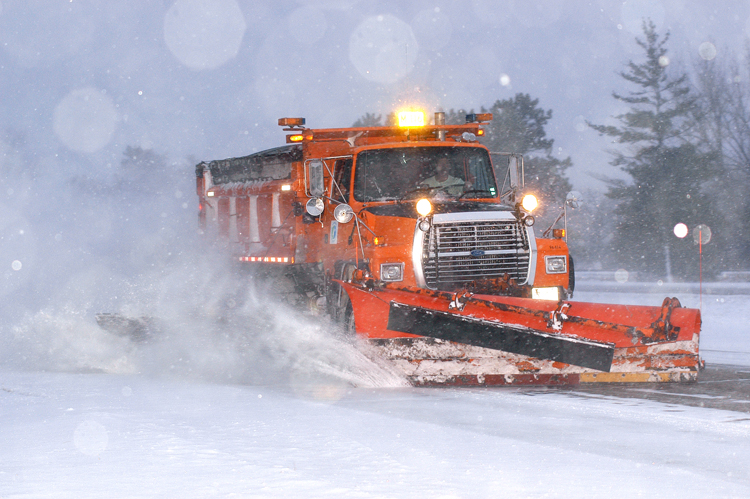
<instances>
[{"instance_id":1,"label":"long black rectangular strip slanting across the orange plow blade","mask_svg":"<svg viewBox=\"0 0 750 499\"><path fill-rule=\"evenodd\" d=\"M416 334L609 372L613 344L550 334L422 307L390 303L390 331Z\"/></svg>"}]
</instances>

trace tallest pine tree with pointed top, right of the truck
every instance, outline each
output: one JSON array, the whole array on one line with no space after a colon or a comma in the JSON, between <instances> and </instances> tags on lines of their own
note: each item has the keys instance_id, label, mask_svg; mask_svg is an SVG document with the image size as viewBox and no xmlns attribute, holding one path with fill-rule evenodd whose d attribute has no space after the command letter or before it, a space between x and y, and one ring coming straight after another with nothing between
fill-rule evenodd
<instances>
[{"instance_id":1,"label":"tallest pine tree with pointed top, right of the truck","mask_svg":"<svg viewBox=\"0 0 750 499\"><path fill-rule=\"evenodd\" d=\"M627 270L693 278L698 265L692 238L676 238L673 228L680 222L691 228L711 223L711 202L702 183L714 156L689 141L696 98L686 74L668 71L669 34L660 37L650 21L644 21L643 33L645 38L636 42L645 61L630 61L620 73L636 88L628 95L613 93L630 105L629 111L616 116L620 126L589 123L620 145L612 151L611 164L630 177L608 182L607 196L618 201L613 250Z\"/></svg>"}]
</instances>

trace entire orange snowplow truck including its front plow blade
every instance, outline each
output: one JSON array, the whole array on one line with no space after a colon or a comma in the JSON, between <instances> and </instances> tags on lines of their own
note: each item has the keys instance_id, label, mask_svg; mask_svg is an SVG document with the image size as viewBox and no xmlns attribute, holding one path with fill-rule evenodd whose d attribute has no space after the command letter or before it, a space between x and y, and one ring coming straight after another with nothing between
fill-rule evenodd
<instances>
[{"instance_id":1,"label":"entire orange snowplow truck including its front plow blade","mask_svg":"<svg viewBox=\"0 0 750 499\"><path fill-rule=\"evenodd\" d=\"M695 379L697 311L566 301L564 231L535 235L523 158L478 142L491 114L398 118L282 118L288 145L198 164L204 232L325 304L415 384Z\"/></svg>"}]
</instances>

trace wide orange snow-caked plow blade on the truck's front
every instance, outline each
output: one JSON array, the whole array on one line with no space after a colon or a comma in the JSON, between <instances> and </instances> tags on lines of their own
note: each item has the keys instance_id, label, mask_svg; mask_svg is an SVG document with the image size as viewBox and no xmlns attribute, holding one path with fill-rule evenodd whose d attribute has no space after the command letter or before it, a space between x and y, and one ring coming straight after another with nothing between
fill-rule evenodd
<instances>
[{"instance_id":1,"label":"wide orange snow-caked plow blade on the truck's front","mask_svg":"<svg viewBox=\"0 0 750 499\"><path fill-rule=\"evenodd\" d=\"M357 334L415 385L697 380L700 311L340 282ZM369 285L368 285L369 284Z\"/></svg>"}]
</instances>

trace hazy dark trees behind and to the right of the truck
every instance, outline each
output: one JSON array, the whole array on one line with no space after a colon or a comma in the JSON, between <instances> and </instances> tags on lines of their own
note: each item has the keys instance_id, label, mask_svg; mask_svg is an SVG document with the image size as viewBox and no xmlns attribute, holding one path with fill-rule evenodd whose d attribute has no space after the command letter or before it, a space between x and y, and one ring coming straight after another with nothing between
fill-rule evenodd
<instances>
[{"instance_id":1,"label":"hazy dark trees behind and to the right of the truck","mask_svg":"<svg viewBox=\"0 0 750 499\"><path fill-rule=\"evenodd\" d=\"M606 192L586 191L586 203L570 213L576 266L664 280L749 270L750 45L744 63L717 59L713 45L702 46L688 72L670 62L669 33L658 33L650 20L635 41L641 56L625 64L612 93L627 111L588 123L610 139L611 165L626 178L597 177ZM552 110L518 93L478 112L494 115L482 143L524 155L527 188L548 207L541 233L571 190L572 160L554 155L545 130ZM446 122L462 123L465 114L447 110ZM354 126L394 122L395 115L368 113ZM678 224L686 234L675 230Z\"/></svg>"}]
</instances>

